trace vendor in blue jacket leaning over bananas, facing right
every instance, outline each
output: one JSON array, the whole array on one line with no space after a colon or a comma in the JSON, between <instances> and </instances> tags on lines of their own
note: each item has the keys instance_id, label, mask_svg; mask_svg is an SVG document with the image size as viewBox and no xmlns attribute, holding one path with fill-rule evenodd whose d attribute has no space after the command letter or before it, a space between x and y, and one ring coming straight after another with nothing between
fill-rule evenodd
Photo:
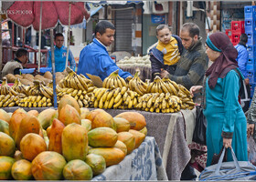
<instances>
[{"instance_id":1,"label":"vendor in blue jacket leaning over bananas, facing right","mask_svg":"<svg viewBox=\"0 0 256 182\"><path fill-rule=\"evenodd\" d=\"M90 45L85 46L80 52L80 62L78 66L78 74L87 76L91 74L100 76L103 81L111 73L119 69L119 76L126 79L132 76L128 72L124 72L113 62L107 51L107 46L111 45L114 38L115 27L109 21L101 21L95 27L95 38ZM88 76L87 76L88 77Z\"/></svg>"}]
</instances>

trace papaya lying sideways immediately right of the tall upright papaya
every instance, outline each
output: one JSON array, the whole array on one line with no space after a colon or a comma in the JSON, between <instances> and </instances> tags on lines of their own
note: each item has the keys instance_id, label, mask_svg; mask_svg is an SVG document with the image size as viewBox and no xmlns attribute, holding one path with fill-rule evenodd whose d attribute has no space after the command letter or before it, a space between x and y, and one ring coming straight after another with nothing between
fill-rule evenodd
<instances>
[{"instance_id":1,"label":"papaya lying sideways immediately right of the tall upright papaya","mask_svg":"<svg viewBox=\"0 0 256 182\"><path fill-rule=\"evenodd\" d=\"M117 133L110 127L97 127L88 132L88 141L91 147L113 147Z\"/></svg>"}]
</instances>

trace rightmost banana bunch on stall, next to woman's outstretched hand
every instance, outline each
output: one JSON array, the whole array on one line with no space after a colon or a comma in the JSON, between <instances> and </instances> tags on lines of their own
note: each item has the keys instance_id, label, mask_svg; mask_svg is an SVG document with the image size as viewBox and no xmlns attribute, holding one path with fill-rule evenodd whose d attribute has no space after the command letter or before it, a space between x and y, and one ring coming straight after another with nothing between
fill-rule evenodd
<instances>
[{"instance_id":1,"label":"rightmost banana bunch on stall, next to woman's outstretched hand","mask_svg":"<svg viewBox=\"0 0 256 182\"><path fill-rule=\"evenodd\" d=\"M182 100L182 109L193 109L195 103L193 102L192 96L186 87L177 85L179 87L178 96Z\"/></svg>"}]
</instances>

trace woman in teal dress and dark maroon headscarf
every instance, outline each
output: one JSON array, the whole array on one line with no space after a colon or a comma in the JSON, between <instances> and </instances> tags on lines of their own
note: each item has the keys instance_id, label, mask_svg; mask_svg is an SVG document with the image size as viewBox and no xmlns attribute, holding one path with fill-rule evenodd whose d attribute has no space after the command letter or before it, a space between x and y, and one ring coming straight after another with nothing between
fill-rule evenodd
<instances>
[{"instance_id":1,"label":"woman in teal dress and dark maroon headscarf","mask_svg":"<svg viewBox=\"0 0 256 182\"><path fill-rule=\"evenodd\" d=\"M208 120L207 166L210 166L213 154L219 154L222 146L232 147L238 160L247 161L247 124L239 103L241 75L236 61L238 52L224 33L209 35L206 44L208 58L213 62L206 72L204 86L204 115ZM192 86L190 92L195 94L202 88ZM228 150L228 161L231 160Z\"/></svg>"}]
</instances>

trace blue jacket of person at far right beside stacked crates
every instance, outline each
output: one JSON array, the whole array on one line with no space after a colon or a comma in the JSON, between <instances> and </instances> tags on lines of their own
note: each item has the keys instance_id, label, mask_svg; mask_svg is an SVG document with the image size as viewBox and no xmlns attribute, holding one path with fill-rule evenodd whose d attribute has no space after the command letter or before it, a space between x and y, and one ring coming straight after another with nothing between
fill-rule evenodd
<instances>
[{"instance_id":1,"label":"blue jacket of person at far right beside stacked crates","mask_svg":"<svg viewBox=\"0 0 256 182\"><path fill-rule=\"evenodd\" d=\"M239 64L240 72L242 76L245 78L248 77L248 71L246 70L246 65L249 59L248 52L246 50L246 47L244 45L236 45L235 48L238 50L239 55L237 57L237 61Z\"/></svg>"}]
</instances>

